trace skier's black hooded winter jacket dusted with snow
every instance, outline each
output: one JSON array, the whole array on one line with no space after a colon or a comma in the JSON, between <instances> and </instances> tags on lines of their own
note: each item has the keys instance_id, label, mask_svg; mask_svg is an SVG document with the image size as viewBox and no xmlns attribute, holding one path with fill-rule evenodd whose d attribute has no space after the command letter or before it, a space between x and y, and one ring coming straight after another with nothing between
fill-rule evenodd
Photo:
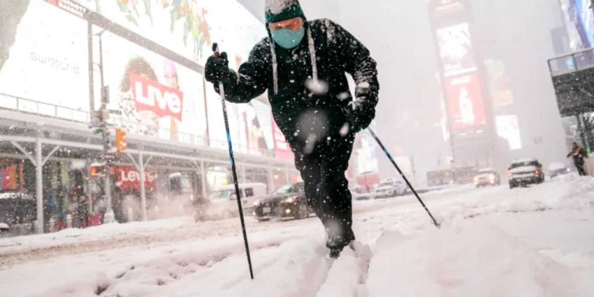
<instances>
[{"instance_id":1,"label":"skier's black hooded winter jacket dusted with snow","mask_svg":"<svg viewBox=\"0 0 594 297\"><path fill-rule=\"evenodd\" d=\"M353 100L345 73L355 79L355 96L365 100L371 118L380 89L377 64L359 40L330 20L307 21L305 28L311 31L321 86L311 84L314 67L308 34L295 49L273 43L274 53L270 37L264 38L239 67L236 84L225 86L227 100L235 103L247 103L268 90L274 119L293 150L311 141L345 136L349 123L345 113Z\"/></svg>"}]
</instances>

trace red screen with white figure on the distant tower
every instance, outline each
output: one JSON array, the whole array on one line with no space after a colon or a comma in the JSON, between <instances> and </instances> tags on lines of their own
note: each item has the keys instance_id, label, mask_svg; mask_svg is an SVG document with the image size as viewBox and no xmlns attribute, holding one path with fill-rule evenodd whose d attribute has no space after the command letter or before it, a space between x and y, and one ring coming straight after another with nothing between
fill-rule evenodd
<instances>
[{"instance_id":1,"label":"red screen with white figure on the distant tower","mask_svg":"<svg viewBox=\"0 0 594 297\"><path fill-rule=\"evenodd\" d=\"M485 106L476 72L445 79L453 129L485 124Z\"/></svg>"}]
</instances>

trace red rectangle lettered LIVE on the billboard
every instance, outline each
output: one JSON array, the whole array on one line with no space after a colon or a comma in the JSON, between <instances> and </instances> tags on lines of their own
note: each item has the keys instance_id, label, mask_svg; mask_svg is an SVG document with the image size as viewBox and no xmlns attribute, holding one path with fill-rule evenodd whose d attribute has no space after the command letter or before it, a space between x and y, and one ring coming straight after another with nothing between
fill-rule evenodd
<instances>
[{"instance_id":1,"label":"red rectangle lettered LIVE on the billboard","mask_svg":"<svg viewBox=\"0 0 594 297\"><path fill-rule=\"evenodd\" d=\"M149 110L159 118L171 116L179 121L182 120L184 93L133 72L128 72L128 77L136 110Z\"/></svg>"}]
</instances>

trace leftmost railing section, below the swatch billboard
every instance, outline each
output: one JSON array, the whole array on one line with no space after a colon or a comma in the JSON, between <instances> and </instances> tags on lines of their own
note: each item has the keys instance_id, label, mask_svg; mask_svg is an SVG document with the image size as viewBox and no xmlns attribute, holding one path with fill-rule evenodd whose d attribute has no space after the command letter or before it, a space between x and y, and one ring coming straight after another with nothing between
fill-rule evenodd
<instances>
[{"instance_id":1,"label":"leftmost railing section, below the swatch billboard","mask_svg":"<svg viewBox=\"0 0 594 297\"><path fill-rule=\"evenodd\" d=\"M37 102L17 96L0 93L0 108L14 109L33 115L48 116L55 119L65 119L72 122L89 122L89 112L81 111L50 103Z\"/></svg>"}]
</instances>

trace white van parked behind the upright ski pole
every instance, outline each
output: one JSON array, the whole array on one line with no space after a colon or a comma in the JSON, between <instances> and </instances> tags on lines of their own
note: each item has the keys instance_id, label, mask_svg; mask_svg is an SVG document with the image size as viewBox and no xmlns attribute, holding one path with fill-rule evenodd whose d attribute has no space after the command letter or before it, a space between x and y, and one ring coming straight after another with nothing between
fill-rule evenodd
<instances>
[{"instance_id":1,"label":"white van parked behind the upright ski pole","mask_svg":"<svg viewBox=\"0 0 594 297\"><path fill-rule=\"evenodd\" d=\"M254 202L260 198L266 197L266 184L239 184L239 198L244 211L248 211ZM208 216L228 217L238 214L237 195L235 185L224 185L214 189L208 197Z\"/></svg>"}]
</instances>

